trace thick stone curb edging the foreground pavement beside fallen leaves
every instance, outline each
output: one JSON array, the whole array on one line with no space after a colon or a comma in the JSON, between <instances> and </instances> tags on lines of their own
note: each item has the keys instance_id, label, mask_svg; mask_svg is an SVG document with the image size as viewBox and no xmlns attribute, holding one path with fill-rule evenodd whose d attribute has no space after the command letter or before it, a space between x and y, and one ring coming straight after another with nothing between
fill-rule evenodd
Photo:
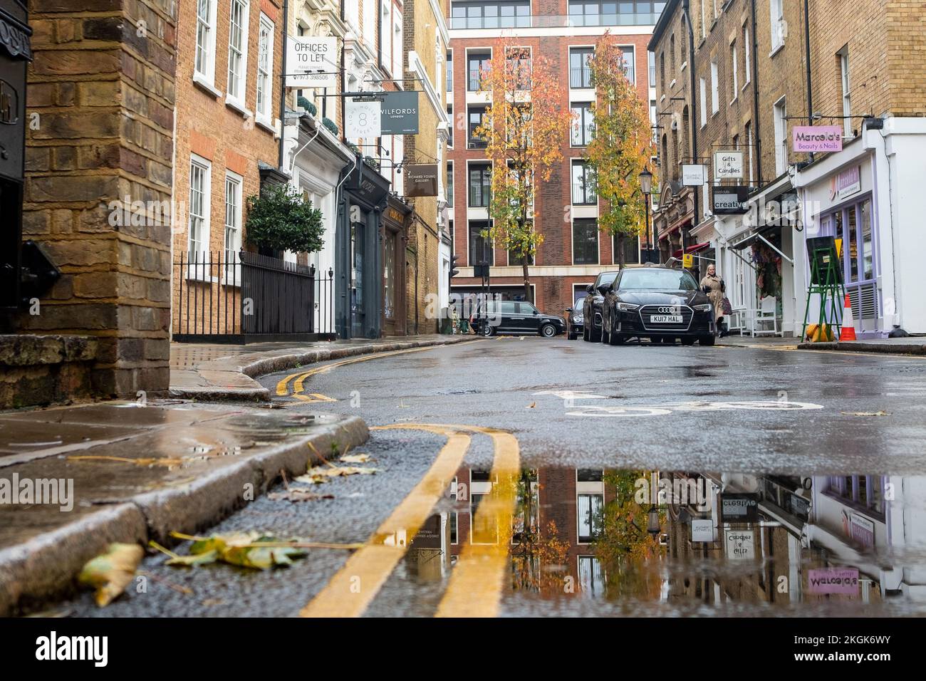
<instances>
[{"instance_id":1,"label":"thick stone curb edging the foreground pavement beside fallen leaves","mask_svg":"<svg viewBox=\"0 0 926 681\"><path fill-rule=\"evenodd\" d=\"M173 543L171 531L193 534L243 507L246 483L254 486L257 498L281 470L301 475L309 464L320 463L319 453L331 451L332 444L344 451L369 437L366 422L357 416L314 428L317 432L206 473L189 485L135 495L18 546L0 549L0 617L22 606L67 596L83 565L111 542Z\"/></svg>"}]
</instances>

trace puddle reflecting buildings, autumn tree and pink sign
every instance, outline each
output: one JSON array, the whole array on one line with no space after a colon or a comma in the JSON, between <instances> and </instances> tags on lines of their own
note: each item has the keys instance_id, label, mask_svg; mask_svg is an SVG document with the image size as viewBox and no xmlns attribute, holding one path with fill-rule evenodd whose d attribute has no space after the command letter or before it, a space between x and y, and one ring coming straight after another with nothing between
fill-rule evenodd
<instances>
[{"instance_id":1,"label":"puddle reflecting buildings, autumn tree and pink sign","mask_svg":"<svg viewBox=\"0 0 926 681\"><path fill-rule=\"evenodd\" d=\"M926 612L926 477L541 468L514 484L500 532L475 513L497 477L460 469L407 576L443 580L468 544L505 542L509 610Z\"/></svg>"}]
</instances>

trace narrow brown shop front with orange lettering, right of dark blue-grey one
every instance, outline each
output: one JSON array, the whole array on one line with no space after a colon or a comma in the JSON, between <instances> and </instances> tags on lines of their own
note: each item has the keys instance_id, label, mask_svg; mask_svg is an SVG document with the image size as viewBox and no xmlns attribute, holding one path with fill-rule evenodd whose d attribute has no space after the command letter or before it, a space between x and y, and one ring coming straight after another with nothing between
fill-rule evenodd
<instances>
[{"instance_id":1,"label":"narrow brown shop front with orange lettering, right of dark blue-grey one","mask_svg":"<svg viewBox=\"0 0 926 681\"><path fill-rule=\"evenodd\" d=\"M405 253L408 216L412 208L389 195L382 215L382 333L406 335L407 277Z\"/></svg>"}]
</instances>

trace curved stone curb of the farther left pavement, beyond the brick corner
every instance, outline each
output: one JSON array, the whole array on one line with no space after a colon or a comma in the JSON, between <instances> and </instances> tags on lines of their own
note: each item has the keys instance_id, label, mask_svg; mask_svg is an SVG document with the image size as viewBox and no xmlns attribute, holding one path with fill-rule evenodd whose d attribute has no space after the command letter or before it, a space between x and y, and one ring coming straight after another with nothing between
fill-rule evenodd
<instances>
[{"instance_id":1,"label":"curved stone curb of the farther left pavement, beyond the brick corner","mask_svg":"<svg viewBox=\"0 0 926 681\"><path fill-rule=\"evenodd\" d=\"M170 397L198 399L201 401L263 400L269 401L270 391L257 383L255 377L287 369L304 367L330 359L342 359L355 355L369 355L376 352L405 350L412 347L445 346L476 340L473 335L448 335L440 340L392 341L367 345L334 347L333 349L292 349L254 352L197 364L195 371L206 378L209 385L195 387L171 387ZM235 385L238 384L238 385Z\"/></svg>"}]
</instances>

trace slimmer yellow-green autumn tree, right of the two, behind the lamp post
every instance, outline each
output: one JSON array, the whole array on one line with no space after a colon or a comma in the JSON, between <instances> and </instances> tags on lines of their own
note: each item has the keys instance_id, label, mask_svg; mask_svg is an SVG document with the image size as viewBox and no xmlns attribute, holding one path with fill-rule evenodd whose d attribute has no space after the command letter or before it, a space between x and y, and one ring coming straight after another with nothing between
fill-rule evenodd
<instances>
[{"instance_id":1,"label":"slimmer yellow-green autumn tree, right of the two, behind the lamp post","mask_svg":"<svg viewBox=\"0 0 926 681\"><path fill-rule=\"evenodd\" d=\"M655 154L649 112L627 79L617 39L606 32L588 61L596 101L594 133L585 149L595 194L604 202L598 228L617 237L618 263L624 264L624 239L646 233L645 197L640 172ZM652 169L651 169L652 170ZM654 185L656 178L654 177Z\"/></svg>"}]
</instances>

